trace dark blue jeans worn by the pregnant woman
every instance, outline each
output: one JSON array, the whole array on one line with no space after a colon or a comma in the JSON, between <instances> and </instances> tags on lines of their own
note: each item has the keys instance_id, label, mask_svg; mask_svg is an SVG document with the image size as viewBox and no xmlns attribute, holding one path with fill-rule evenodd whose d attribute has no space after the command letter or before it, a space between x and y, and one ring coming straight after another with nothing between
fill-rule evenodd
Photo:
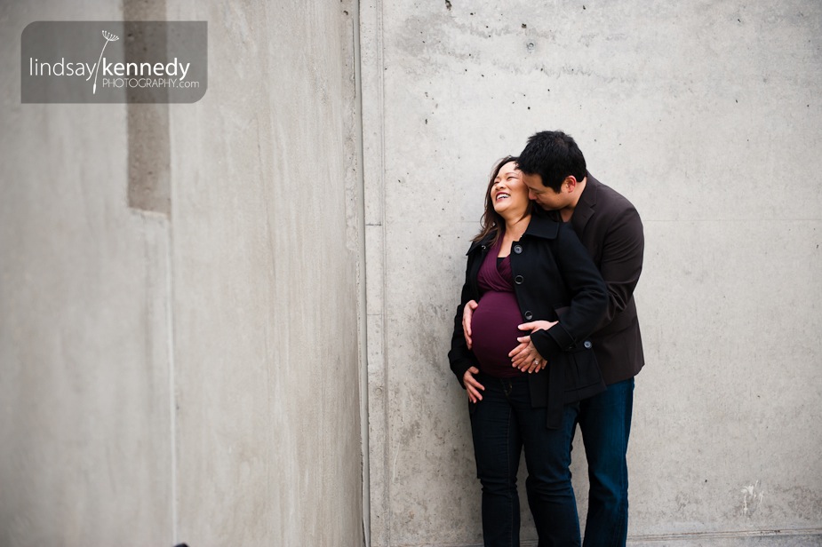
<instances>
[{"instance_id":1,"label":"dark blue jeans worn by the pregnant woman","mask_svg":"<svg viewBox=\"0 0 822 547\"><path fill-rule=\"evenodd\" d=\"M525 490L539 547L579 545L579 515L571 486L571 441L578 405L563 409L563 426L546 427L546 408L531 408L528 377L479 375L483 400L471 406L477 477L483 484L486 547L520 544L516 472L525 449Z\"/></svg>"}]
</instances>

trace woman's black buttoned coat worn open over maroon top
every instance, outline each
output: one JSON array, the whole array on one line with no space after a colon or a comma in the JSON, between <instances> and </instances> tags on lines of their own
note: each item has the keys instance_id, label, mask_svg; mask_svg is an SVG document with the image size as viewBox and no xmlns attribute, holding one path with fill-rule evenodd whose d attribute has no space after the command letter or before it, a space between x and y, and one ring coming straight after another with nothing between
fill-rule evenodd
<instances>
[{"instance_id":1,"label":"woman's black buttoned coat worn open over maroon top","mask_svg":"<svg viewBox=\"0 0 822 547\"><path fill-rule=\"evenodd\" d=\"M477 274L491 250L492 238L490 235L474 242L467 252L466 281L448 353L451 370L460 384L467 369L479 368L479 361L468 349L463 335L462 312L469 300L480 300ZM563 404L585 399L605 388L591 342L586 339L605 313L605 283L571 225L541 212L531 217L523 236L512 244L511 272L523 322L559 321L551 329L531 334L537 351L547 360L547 374L528 377L532 406L548 406L548 426L555 428Z\"/></svg>"}]
</instances>

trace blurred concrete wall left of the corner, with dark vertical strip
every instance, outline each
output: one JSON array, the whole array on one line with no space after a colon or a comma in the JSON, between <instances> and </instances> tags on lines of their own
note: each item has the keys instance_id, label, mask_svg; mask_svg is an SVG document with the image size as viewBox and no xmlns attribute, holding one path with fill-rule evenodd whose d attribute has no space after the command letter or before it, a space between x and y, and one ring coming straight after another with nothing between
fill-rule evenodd
<instances>
[{"instance_id":1,"label":"blurred concrete wall left of the corner, with dark vertical strip","mask_svg":"<svg viewBox=\"0 0 822 547\"><path fill-rule=\"evenodd\" d=\"M0 545L363 544L355 3L144 4L0 6ZM29 22L140 10L204 99L20 104Z\"/></svg>"}]
</instances>

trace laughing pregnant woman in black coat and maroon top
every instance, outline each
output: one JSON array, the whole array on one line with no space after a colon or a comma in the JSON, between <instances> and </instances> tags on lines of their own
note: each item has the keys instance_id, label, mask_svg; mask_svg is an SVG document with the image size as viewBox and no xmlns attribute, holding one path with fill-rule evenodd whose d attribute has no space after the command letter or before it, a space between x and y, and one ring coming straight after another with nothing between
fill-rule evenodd
<instances>
[{"instance_id":1,"label":"laughing pregnant woman in black coat and maroon top","mask_svg":"<svg viewBox=\"0 0 822 547\"><path fill-rule=\"evenodd\" d=\"M467 257L448 357L469 400L485 545L519 545L523 448L539 546L579 545L571 440L575 402L604 389L585 338L605 311L602 277L571 226L533 206L511 156L491 173Z\"/></svg>"}]
</instances>

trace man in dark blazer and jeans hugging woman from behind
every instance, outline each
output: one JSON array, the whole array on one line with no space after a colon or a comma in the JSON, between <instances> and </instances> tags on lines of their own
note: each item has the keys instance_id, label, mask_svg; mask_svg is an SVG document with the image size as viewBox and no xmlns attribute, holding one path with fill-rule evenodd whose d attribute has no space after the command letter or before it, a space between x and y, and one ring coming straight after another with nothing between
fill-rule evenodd
<instances>
[{"instance_id":1,"label":"man in dark blazer and jeans hugging woman from behind","mask_svg":"<svg viewBox=\"0 0 822 547\"><path fill-rule=\"evenodd\" d=\"M555 211L564 222L571 222L608 288L608 311L591 336L608 389L582 400L579 408L590 480L583 544L625 545L626 451L634 376L644 364L634 304L634 288L642 272L642 220L631 202L587 172L577 143L562 131L532 135L518 166L529 187L529 197L543 209ZM474 307L467 305L463 316L467 340ZM526 323L521 328L529 327Z\"/></svg>"}]
</instances>

